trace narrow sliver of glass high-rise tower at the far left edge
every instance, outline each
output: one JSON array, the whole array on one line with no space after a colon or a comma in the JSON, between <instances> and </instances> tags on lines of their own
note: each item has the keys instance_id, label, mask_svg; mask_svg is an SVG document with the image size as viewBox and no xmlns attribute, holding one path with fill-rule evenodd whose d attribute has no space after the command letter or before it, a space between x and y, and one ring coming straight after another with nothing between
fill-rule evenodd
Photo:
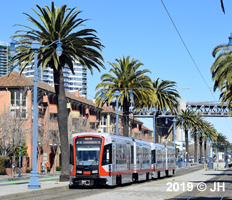
<instances>
[{"instance_id":1,"label":"narrow sliver of glass high-rise tower at the far left edge","mask_svg":"<svg viewBox=\"0 0 232 200\"><path fill-rule=\"evenodd\" d=\"M0 41L0 77L8 73L8 55L6 55L8 44Z\"/></svg>"}]
</instances>

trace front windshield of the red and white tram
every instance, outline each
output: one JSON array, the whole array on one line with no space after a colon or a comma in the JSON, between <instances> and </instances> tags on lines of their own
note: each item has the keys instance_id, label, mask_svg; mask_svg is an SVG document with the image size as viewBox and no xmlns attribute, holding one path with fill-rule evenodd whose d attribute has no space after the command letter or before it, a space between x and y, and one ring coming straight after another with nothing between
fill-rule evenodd
<instances>
[{"instance_id":1,"label":"front windshield of the red and white tram","mask_svg":"<svg viewBox=\"0 0 232 200\"><path fill-rule=\"evenodd\" d=\"M100 145L80 145L76 147L77 165L98 165Z\"/></svg>"}]
</instances>

